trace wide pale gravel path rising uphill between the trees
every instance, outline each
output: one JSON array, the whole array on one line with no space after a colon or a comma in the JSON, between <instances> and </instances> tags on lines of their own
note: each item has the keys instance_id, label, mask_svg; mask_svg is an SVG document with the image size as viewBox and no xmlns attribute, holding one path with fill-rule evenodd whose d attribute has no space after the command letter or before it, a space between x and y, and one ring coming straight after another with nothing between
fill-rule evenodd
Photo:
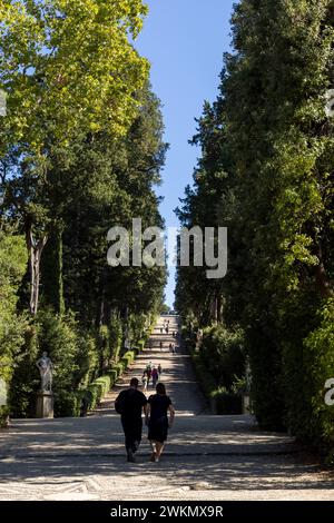
<instances>
[{"instance_id":1,"label":"wide pale gravel path rising uphill between the trees","mask_svg":"<svg viewBox=\"0 0 334 523\"><path fill-rule=\"evenodd\" d=\"M189 356L160 333L101 407L85 418L16 420L0 431L0 500L334 500L334 477L286 434L258 431L250 416L210 415ZM163 348L160 348L163 342ZM114 401L147 363L163 366L177 417L159 463L126 463ZM147 391L147 395L151 389Z\"/></svg>"}]
</instances>

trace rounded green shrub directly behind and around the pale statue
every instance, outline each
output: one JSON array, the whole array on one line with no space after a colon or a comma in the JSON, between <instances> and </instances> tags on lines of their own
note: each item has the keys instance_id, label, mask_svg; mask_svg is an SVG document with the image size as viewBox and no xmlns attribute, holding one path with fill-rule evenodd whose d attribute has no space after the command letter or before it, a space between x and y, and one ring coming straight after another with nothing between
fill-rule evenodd
<instances>
[{"instance_id":1,"label":"rounded green shrub directly behind and around the pale statue","mask_svg":"<svg viewBox=\"0 0 334 523\"><path fill-rule=\"evenodd\" d=\"M40 387L36 362L43 351L55 366L52 388L57 416L78 412L75 393L95 377L98 358L94 337L82 330L72 314L59 316L51 309L40 312L27 332L10 388L10 405L16 417L35 415L36 393Z\"/></svg>"}]
</instances>

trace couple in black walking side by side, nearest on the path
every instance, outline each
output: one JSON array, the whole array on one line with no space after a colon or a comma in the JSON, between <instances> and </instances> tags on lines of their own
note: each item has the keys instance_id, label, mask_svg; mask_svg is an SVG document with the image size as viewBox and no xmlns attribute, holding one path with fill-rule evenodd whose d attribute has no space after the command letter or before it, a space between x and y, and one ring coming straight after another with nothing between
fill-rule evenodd
<instances>
[{"instance_id":1,"label":"couple in black walking side by side, nearest on the path","mask_svg":"<svg viewBox=\"0 0 334 523\"><path fill-rule=\"evenodd\" d=\"M168 436L168 428L173 426L175 411L163 383L157 384L156 394L149 396L148 399L145 394L138 391L138 385L139 381L134 377L130 382L130 388L122 391L115 402L115 409L120 414L125 433L127 458L128 462L135 462L135 453L141 442L141 413L144 412L145 423L148 426L148 440L153 450L150 460L158 462Z\"/></svg>"}]
</instances>

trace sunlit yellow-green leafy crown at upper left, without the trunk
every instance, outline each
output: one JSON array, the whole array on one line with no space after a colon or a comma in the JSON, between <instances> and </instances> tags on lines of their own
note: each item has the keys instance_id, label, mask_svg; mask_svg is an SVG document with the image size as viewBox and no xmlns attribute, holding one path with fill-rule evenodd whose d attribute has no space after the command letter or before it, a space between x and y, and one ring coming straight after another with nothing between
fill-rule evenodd
<instances>
[{"instance_id":1,"label":"sunlit yellow-green leafy crown at upper left, without the trunk","mask_svg":"<svg viewBox=\"0 0 334 523\"><path fill-rule=\"evenodd\" d=\"M42 155L50 137L68 144L82 127L125 134L147 80L136 37L141 0L1 0L0 85L9 140Z\"/></svg>"}]
</instances>

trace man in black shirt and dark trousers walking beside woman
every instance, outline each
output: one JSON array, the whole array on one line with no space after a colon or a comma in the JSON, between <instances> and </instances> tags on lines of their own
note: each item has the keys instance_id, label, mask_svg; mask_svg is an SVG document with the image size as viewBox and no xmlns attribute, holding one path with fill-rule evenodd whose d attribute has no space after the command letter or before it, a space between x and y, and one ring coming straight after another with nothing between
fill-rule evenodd
<instances>
[{"instance_id":1,"label":"man in black shirt and dark trousers walking beside woman","mask_svg":"<svg viewBox=\"0 0 334 523\"><path fill-rule=\"evenodd\" d=\"M134 454L138 451L141 432L143 420L141 412L147 412L147 399L145 394L138 391L139 381L132 377L130 388L122 391L116 402L115 409L120 414L121 425L125 433L125 446L128 455L128 462L135 462Z\"/></svg>"}]
</instances>

